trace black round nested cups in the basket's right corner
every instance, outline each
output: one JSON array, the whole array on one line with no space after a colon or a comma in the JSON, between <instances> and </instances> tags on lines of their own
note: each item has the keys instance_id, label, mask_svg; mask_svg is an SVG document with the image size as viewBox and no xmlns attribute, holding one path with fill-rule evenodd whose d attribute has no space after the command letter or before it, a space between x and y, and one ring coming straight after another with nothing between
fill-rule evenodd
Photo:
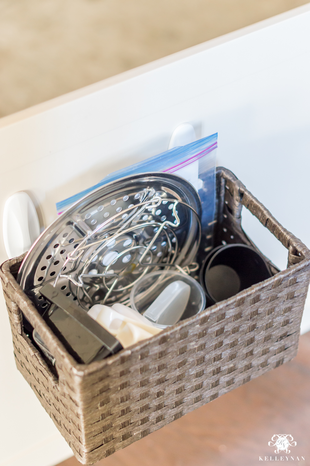
<instances>
[{"instance_id":1,"label":"black round nested cups in the basket's right corner","mask_svg":"<svg viewBox=\"0 0 310 466\"><path fill-rule=\"evenodd\" d=\"M245 244L214 248L200 269L200 282L209 305L230 298L271 276L261 254Z\"/></svg>"}]
</instances>

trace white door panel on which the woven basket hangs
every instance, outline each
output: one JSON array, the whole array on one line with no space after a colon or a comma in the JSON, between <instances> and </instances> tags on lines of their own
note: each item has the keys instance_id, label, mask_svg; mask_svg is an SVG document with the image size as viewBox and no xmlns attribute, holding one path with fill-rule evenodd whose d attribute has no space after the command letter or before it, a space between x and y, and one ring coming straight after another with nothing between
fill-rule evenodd
<instances>
[{"instance_id":1,"label":"white door panel on which the woven basket hangs","mask_svg":"<svg viewBox=\"0 0 310 466\"><path fill-rule=\"evenodd\" d=\"M197 138L218 132L219 164L310 246L309 82L308 4L2 118L0 218L5 200L25 191L47 226L55 202L165 151L188 122ZM285 268L277 240L247 212L243 225ZM55 465L71 451L15 367L3 298L0 325L0 465ZM309 300L302 329L310 329Z\"/></svg>"}]
</instances>

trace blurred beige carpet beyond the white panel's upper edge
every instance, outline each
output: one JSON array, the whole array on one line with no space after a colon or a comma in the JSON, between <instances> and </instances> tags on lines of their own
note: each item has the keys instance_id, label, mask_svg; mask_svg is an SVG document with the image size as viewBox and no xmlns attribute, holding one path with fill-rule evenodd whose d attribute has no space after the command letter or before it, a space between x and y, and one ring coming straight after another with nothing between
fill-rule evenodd
<instances>
[{"instance_id":1,"label":"blurred beige carpet beyond the white panel's upper edge","mask_svg":"<svg viewBox=\"0 0 310 466\"><path fill-rule=\"evenodd\" d=\"M304 0L0 0L0 117Z\"/></svg>"}]
</instances>

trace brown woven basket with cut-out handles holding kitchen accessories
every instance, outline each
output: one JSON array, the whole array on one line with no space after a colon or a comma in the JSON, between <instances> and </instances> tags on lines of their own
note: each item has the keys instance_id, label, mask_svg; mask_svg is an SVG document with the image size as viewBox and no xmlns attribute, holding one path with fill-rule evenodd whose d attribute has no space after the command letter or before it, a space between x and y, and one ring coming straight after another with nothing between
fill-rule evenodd
<instances>
[{"instance_id":1,"label":"brown woven basket with cut-out handles holding kitchen accessories","mask_svg":"<svg viewBox=\"0 0 310 466\"><path fill-rule=\"evenodd\" d=\"M200 315L103 361L77 364L15 281L23 256L0 275L17 368L83 464L92 464L296 356L310 251L234 175L217 170L215 246L252 244L247 207L289 250L288 268ZM25 334L22 313L56 359L53 371Z\"/></svg>"}]
</instances>

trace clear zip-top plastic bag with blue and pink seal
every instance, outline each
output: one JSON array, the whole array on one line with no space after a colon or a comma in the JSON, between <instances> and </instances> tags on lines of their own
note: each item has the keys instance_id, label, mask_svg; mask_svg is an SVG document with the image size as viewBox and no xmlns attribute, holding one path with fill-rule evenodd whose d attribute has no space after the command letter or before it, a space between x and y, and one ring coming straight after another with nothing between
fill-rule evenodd
<instances>
[{"instance_id":1,"label":"clear zip-top plastic bag with blue and pink seal","mask_svg":"<svg viewBox=\"0 0 310 466\"><path fill-rule=\"evenodd\" d=\"M202 241L201 246L211 249L215 211L215 165L216 165L217 133L203 137L184 146L174 147L142 162L110 173L99 183L81 191L74 196L57 202L57 213L60 214L79 199L101 186L119 178L138 173L162 171L173 173L189 181L199 194L202 206Z\"/></svg>"}]
</instances>

